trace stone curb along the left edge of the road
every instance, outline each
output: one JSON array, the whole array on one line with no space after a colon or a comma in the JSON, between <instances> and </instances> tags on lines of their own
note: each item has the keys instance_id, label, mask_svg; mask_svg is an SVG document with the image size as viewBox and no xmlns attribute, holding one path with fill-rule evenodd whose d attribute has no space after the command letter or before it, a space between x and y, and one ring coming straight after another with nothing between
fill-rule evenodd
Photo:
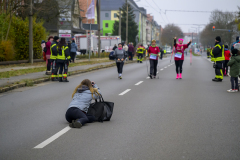
<instances>
[{"instance_id":1,"label":"stone curb along the left edge of the road","mask_svg":"<svg viewBox=\"0 0 240 160\"><path fill-rule=\"evenodd\" d=\"M127 62L125 62L125 64L131 64L131 63L134 63L134 62L136 62L136 60L127 61ZM85 69L85 70L72 71L72 72L68 73L68 76L74 76L74 75L77 75L77 74L92 72L92 71L96 71L96 70L100 70L100 69L104 69L104 68L110 68L110 67L114 67L114 66L116 66L116 64L112 63L112 64L108 64L108 65L101 65L101 66L97 66L97 67L88 68L88 69ZM32 82L32 84L40 84L40 83L50 81L50 77L40 78L40 79L39 78L38 79L28 79L28 80L30 80ZM0 93L8 92L8 91L11 91L11 90L14 90L14 89L17 89L17 88L26 87L26 86L28 86L28 82L22 82L22 83L19 83L19 84L8 85L8 86L5 86L5 87L1 87L0 88Z\"/></svg>"}]
</instances>

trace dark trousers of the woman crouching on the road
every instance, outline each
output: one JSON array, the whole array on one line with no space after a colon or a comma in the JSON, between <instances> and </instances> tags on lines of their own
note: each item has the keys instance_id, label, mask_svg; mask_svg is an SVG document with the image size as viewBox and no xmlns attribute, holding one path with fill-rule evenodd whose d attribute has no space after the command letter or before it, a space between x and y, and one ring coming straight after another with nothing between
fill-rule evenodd
<instances>
[{"instance_id":1,"label":"dark trousers of the woman crouching on the road","mask_svg":"<svg viewBox=\"0 0 240 160\"><path fill-rule=\"evenodd\" d=\"M73 120L79 119L82 125L95 121L94 116L87 115L77 107L69 108L65 114L65 118L69 123L72 123Z\"/></svg>"}]
</instances>

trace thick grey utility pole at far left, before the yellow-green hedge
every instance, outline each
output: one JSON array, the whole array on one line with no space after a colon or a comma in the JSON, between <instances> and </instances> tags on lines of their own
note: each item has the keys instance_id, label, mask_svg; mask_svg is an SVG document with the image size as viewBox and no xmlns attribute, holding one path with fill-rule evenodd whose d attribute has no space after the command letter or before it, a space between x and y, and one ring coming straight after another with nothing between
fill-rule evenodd
<instances>
[{"instance_id":1,"label":"thick grey utility pole at far left, before the yellow-green hedge","mask_svg":"<svg viewBox=\"0 0 240 160\"><path fill-rule=\"evenodd\" d=\"M30 0L30 12L29 12L29 63L33 64L33 3Z\"/></svg>"}]
</instances>

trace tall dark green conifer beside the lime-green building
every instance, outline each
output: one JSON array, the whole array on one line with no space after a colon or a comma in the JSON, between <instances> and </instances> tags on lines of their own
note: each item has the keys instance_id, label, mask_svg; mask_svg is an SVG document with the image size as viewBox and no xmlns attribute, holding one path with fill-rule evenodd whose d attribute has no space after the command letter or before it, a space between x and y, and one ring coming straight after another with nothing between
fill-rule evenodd
<instances>
[{"instance_id":1,"label":"tall dark green conifer beside the lime-green building","mask_svg":"<svg viewBox=\"0 0 240 160\"><path fill-rule=\"evenodd\" d=\"M130 4L125 3L121 10L121 38L126 40L126 19L127 19L127 5L128 5L128 42L136 44L136 36L138 35L138 25L135 22L135 14ZM119 14L117 15L119 18ZM119 21L115 21L113 26L113 35L118 35Z\"/></svg>"}]
</instances>

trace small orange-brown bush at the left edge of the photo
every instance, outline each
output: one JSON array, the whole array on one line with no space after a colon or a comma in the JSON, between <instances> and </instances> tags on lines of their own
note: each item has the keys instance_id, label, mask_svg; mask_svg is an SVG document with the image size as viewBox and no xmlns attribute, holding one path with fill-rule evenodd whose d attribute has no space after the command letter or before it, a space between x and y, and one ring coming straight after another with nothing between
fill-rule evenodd
<instances>
[{"instance_id":1,"label":"small orange-brown bush at the left edge of the photo","mask_svg":"<svg viewBox=\"0 0 240 160\"><path fill-rule=\"evenodd\" d=\"M15 51L13 48L12 41L1 41L0 42L0 61L11 61L14 60Z\"/></svg>"}]
</instances>

